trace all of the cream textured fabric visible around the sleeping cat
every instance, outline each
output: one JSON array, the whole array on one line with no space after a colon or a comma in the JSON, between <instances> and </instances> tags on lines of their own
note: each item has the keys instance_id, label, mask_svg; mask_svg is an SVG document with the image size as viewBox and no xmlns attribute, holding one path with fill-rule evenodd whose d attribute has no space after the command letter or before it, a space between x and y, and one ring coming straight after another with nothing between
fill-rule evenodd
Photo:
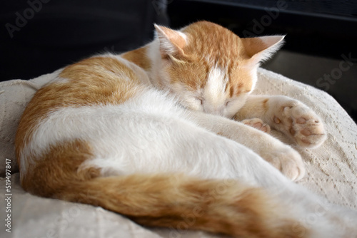
<instances>
[{"instance_id":1,"label":"all of the cream textured fabric visible around the sleeping cat","mask_svg":"<svg viewBox=\"0 0 357 238\"><path fill-rule=\"evenodd\" d=\"M4 176L5 158L11 159L16 172L14 134L21 113L34 92L57 72L32 81L0 83L0 162ZM312 108L326 124L328 139L317 149L301 149L282 133L272 131L303 156L307 175L299 183L331 202L357 210L357 125L330 95L292 81L276 73L259 69L254 93L288 95ZM5 180L0 179L0 207L4 201ZM0 237L216 237L204 232L175 229L147 229L119 214L99 207L34 197L19 185L19 173L11 176L12 232L0 229ZM5 211L0 211L4 221ZM221 237L221 236L219 236Z\"/></svg>"}]
</instances>

